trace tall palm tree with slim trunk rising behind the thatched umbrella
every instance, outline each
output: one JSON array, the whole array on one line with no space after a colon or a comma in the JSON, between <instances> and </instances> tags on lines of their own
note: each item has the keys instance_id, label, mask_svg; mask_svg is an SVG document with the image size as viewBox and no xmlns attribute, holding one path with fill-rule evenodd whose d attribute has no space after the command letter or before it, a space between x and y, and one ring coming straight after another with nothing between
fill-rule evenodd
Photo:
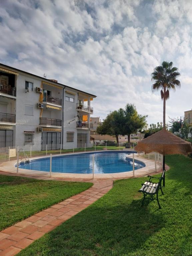
<instances>
[{"instance_id":1,"label":"tall palm tree with slim trunk rising behind the thatched umbrella","mask_svg":"<svg viewBox=\"0 0 192 256\"><path fill-rule=\"evenodd\" d=\"M172 67L173 62L163 61L161 66L154 68L151 74L152 91L161 90L161 99L163 100L163 128L165 128L165 103L169 99L169 90L175 91L176 88L181 86L177 77L180 76L178 68Z\"/></svg>"}]
</instances>

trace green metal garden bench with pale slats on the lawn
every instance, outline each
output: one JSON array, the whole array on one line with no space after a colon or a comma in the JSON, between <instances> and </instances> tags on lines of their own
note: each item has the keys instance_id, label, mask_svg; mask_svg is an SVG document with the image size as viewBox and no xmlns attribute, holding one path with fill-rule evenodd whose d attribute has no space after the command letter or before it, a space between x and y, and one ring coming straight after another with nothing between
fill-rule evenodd
<instances>
[{"instance_id":1,"label":"green metal garden bench with pale slats on the lawn","mask_svg":"<svg viewBox=\"0 0 192 256\"><path fill-rule=\"evenodd\" d=\"M141 205L143 206L143 202L146 198L146 195L149 195L150 196L150 200L153 201L153 200L157 200L157 203L159 205L159 209L161 209L161 206L159 204L159 199L158 199L158 192L159 192L159 189L161 190L161 193L163 195L163 190L162 190L162 187L161 187L161 182L163 180L163 177L165 175L165 170L163 171L162 175L160 178L157 178L157 177L153 177L153 176L150 176L148 175L147 177L149 177L149 180L148 181L145 181L145 183L142 183L142 187L139 189L138 192L142 192L143 193L143 200L141 202ZM159 182L155 183L155 182L152 182L152 179L158 179ZM156 195L156 198L154 198L154 195Z\"/></svg>"}]
</instances>

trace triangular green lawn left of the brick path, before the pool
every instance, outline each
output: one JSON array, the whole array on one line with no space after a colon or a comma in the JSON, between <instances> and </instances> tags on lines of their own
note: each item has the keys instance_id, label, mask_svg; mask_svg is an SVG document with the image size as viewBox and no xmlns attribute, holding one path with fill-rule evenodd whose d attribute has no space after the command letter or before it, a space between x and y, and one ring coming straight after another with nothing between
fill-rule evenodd
<instances>
[{"instance_id":1,"label":"triangular green lawn left of the brick path, before the pool","mask_svg":"<svg viewBox=\"0 0 192 256\"><path fill-rule=\"evenodd\" d=\"M0 230L78 194L92 183L0 175Z\"/></svg>"}]
</instances>

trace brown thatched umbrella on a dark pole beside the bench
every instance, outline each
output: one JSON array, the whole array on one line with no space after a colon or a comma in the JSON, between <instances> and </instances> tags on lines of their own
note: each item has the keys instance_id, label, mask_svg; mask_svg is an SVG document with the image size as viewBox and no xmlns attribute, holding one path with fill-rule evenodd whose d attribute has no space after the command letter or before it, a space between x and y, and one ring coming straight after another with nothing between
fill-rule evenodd
<instances>
[{"instance_id":1,"label":"brown thatched umbrella on a dark pole beside the bench","mask_svg":"<svg viewBox=\"0 0 192 256\"><path fill-rule=\"evenodd\" d=\"M168 132L165 128L137 143L135 150L138 152L157 152L163 155L163 170L165 170L165 155L182 154L192 152L191 143ZM165 176L163 179L165 186Z\"/></svg>"}]
</instances>

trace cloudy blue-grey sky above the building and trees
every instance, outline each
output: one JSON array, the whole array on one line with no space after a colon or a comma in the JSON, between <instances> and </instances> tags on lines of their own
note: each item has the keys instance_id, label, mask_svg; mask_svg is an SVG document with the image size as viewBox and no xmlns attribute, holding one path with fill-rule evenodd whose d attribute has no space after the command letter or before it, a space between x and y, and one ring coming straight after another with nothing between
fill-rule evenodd
<instances>
[{"instance_id":1,"label":"cloudy blue-grey sky above the building and trees","mask_svg":"<svg viewBox=\"0 0 192 256\"><path fill-rule=\"evenodd\" d=\"M97 95L94 116L133 103L162 121L151 72L163 60L181 73L166 116L192 108L191 0L1 0L0 62Z\"/></svg>"}]
</instances>

